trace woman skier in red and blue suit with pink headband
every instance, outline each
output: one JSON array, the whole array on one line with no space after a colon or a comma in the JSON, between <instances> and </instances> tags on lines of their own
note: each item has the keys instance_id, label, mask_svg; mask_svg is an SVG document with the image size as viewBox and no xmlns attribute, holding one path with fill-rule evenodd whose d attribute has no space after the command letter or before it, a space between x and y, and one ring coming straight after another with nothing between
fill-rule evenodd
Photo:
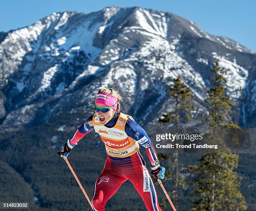
<instances>
[{"instance_id":1,"label":"woman skier in red and blue suit with pink headband","mask_svg":"<svg viewBox=\"0 0 256 211\"><path fill-rule=\"evenodd\" d=\"M107 160L97 178L92 198L95 211L105 211L108 199L113 196L126 180L130 180L143 199L149 211L161 211L156 190L146 168L139 145L146 148L151 162L151 173L164 178L165 168L161 167L156 151L147 133L131 116L120 113L122 97L117 90L101 88L95 98L95 114L78 128L71 140L61 147L61 156L67 157L77 142L87 133L95 130L105 143Z\"/></svg>"}]
</instances>

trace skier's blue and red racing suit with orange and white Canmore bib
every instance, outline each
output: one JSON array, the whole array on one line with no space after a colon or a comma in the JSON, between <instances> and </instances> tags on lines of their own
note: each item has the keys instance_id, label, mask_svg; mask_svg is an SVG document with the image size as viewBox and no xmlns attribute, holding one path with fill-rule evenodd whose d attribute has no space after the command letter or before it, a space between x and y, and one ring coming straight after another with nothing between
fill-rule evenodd
<instances>
[{"instance_id":1,"label":"skier's blue and red racing suit with orange and white Canmore bib","mask_svg":"<svg viewBox=\"0 0 256 211\"><path fill-rule=\"evenodd\" d=\"M105 125L101 125L94 114L78 128L70 143L77 144L93 129L99 133L107 151L105 166L95 183L92 198L95 211L104 211L108 199L127 180L133 183L149 211L161 211L154 183L138 150L142 145L150 162L157 161L156 151L146 131L131 116L123 113L115 113Z\"/></svg>"}]
</instances>

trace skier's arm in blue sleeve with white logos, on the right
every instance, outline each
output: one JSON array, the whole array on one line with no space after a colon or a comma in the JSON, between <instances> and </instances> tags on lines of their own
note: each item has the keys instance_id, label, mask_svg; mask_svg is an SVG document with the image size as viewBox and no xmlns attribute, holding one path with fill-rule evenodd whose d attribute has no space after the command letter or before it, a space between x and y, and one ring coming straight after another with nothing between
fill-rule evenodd
<instances>
[{"instance_id":1,"label":"skier's arm in blue sleeve with white logos, on the right","mask_svg":"<svg viewBox=\"0 0 256 211\"><path fill-rule=\"evenodd\" d=\"M148 158L151 162L151 167L158 168L159 161L156 156L156 150L153 146L152 141L150 140L150 138L148 138L146 131L143 128L141 128L141 126L139 126L138 123L136 123L135 121L128 118L128 120L125 124L125 133L128 136L135 139L136 141L138 141L138 143L141 144L141 146L146 148ZM156 162L156 161L158 161L158 162Z\"/></svg>"}]
</instances>

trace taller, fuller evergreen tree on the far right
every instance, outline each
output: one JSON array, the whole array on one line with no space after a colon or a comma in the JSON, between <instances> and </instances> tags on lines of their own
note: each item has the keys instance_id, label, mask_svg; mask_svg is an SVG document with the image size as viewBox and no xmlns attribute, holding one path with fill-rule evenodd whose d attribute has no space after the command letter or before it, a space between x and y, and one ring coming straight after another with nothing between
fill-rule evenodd
<instances>
[{"instance_id":1,"label":"taller, fuller evergreen tree on the far right","mask_svg":"<svg viewBox=\"0 0 256 211\"><path fill-rule=\"evenodd\" d=\"M225 69L218 62L211 69L212 88L208 91L206 102L209 105L207 123L211 136L221 138L216 133L218 128L239 128L231 121L232 100L226 95L224 78ZM239 211L246 210L245 199L239 191L241 180L234 168L238 167L236 153L207 153L202 156L199 166L188 166L185 170L192 176L192 183L197 186L196 200L191 211Z\"/></svg>"}]
</instances>

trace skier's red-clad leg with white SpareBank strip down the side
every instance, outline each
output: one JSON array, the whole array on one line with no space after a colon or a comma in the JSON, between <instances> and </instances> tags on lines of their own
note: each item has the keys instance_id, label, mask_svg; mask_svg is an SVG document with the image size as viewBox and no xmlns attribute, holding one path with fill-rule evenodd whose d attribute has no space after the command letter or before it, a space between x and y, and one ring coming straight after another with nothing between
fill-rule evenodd
<instances>
[{"instance_id":1,"label":"skier's red-clad leg with white SpareBank strip down the side","mask_svg":"<svg viewBox=\"0 0 256 211\"><path fill-rule=\"evenodd\" d=\"M132 158L133 169L130 171L131 173L127 172L125 176L127 176L128 179L133 183L133 186L140 194L148 211L161 211L154 183L151 179L148 169L146 166L144 166L145 162L142 156L139 152L137 155L138 158L135 156ZM138 159L140 162L138 162Z\"/></svg>"}]
</instances>

